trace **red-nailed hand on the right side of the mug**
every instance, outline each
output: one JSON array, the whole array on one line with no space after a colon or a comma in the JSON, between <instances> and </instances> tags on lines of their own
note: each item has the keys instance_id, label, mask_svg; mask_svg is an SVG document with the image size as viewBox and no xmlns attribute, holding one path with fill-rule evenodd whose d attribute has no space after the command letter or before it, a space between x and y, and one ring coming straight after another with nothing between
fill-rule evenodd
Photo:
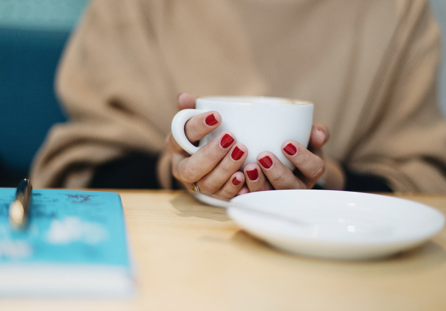
<instances>
[{"instance_id":1,"label":"red-nailed hand on the right side of the mug","mask_svg":"<svg viewBox=\"0 0 446 311\"><path fill-rule=\"evenodd\" d=\"M244 168L246 185L240 193L272 189L311 189L326 172L325 188L342 190L344 174L338 164L324 160L322 145L329 138L328 129L323 124L314 124L308 149L297 141L285 141L282 152L296 166L292 172L271 152L264 151L257 156L257 163L249 163Z\"/></svg>"}]
</instances>

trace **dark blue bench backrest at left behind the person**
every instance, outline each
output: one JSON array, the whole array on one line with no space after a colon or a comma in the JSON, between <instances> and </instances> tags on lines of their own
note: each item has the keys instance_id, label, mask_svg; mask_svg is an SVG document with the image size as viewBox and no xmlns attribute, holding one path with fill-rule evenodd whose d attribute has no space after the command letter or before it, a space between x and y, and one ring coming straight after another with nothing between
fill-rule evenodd
<instances>
[{"instance_id":1,"label":"dark blue bench backrest at left behind the person","mask_svg":"<svg viewBox=\"0 0 446 311\"><path fill-rule=\"evenodd\" d=\"M0 186L26 176L48 129L66 120L53 85L69 34L0 28Z\"/></svg>"}]
</instances>

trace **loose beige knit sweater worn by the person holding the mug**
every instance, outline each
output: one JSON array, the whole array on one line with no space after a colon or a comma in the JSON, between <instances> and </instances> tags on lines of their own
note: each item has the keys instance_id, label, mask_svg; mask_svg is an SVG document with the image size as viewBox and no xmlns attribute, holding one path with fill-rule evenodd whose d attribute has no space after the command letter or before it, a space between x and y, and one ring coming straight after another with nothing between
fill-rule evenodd
<instances>
[{"instance_id":1,"label":"loose beige knit sweater worn by the person holding the mug","mask_svg":"<svg viewBox=\"0 0 446 311\"><path fill-rule=\"evenodd\" d=\"M70 121L31 178L85 187L103 162L161 153L187 91L310 100L328 157L395 191L446 192L439 58L426 0L94 0L58 69Z\"/></svg>"}]
</instances>

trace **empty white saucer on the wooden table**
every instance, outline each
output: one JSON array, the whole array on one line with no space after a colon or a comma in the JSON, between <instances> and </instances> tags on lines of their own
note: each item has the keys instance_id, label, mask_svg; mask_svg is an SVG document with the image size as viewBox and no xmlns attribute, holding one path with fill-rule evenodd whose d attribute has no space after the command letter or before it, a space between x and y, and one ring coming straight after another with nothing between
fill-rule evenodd
<instances>
[{"instance_id":1,"label":"empty white saucer on the wooden table","mask_svg":"<svg viewBox=\"0 0 446 311\"><path fill-rule=\"evenodd\" d=\"M325 258L386 257L420 245L445 224L432 207L359 192L259 191L231 202L300 220L303 225L237 207L228 210L246 231L278 249Z\"/></svg>"}]
</instances>

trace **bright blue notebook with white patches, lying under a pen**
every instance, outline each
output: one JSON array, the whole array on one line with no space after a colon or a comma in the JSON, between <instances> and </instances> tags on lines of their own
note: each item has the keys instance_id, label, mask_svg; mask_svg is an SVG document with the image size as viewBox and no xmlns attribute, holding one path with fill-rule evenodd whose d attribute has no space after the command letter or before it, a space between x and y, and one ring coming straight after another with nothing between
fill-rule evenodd
<instances>
[{"instance_id":1,"label":"bright blue notebook with white patches, lying under a pen","mask_svg":"<svg viewBox=\"0 0 446 311\"><path fill-rule=\"evenodd\" d=\"M135 289L119 194L34 189L15 231L0 188L0 295L128 296Z\"/></svg>"}]
</instances>

